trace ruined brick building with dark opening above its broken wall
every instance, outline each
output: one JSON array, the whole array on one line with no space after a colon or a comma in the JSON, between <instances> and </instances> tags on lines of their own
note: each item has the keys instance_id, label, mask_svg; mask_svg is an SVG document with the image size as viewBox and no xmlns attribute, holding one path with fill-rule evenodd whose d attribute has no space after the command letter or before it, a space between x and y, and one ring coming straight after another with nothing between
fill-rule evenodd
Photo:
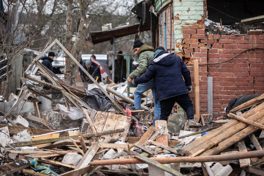
<instances>
[{"instance_id":1,"label":"ruined brick building with dark opening above its broken wall","mask_svg":"<svg viewBox=\"0 0 264 176\"><path fill-rule=\"evenodd\" d=\"M155 1L158 16L157 46L164 46L168 52L174 52L183 59L191 71L192 85L193 60L199 62L201 113L223 111L234 97L264 92L261 4L258 1L235 3L227 0ZM258 16L254 19L262 21L252 21L257 26L252 26L250 20L244 20L250 25L237 23L240 20L232 17L234 14L239 15L240 19ZM220 22L221 16L222 25L213 22ZM212 77L210 82L209 77ZM212 97L208 95L210 86L213 87ZM196 106L194 91L190 96ZM208 104L210 98L212 108Z\"/></svg>"}]
</instances>

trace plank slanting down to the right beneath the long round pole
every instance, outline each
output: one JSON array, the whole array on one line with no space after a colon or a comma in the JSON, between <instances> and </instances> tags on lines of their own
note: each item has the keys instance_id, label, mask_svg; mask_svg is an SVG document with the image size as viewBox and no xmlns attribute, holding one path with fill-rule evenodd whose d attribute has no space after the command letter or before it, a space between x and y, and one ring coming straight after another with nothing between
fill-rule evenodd
<instances>
[{"instance_id":1,"label":"plank slanting down to the right beneath the long round pole","mask_svg":"<svg viewBox=\"0 0 264 176\"><path fill-rule=\"evenodd\" d=\"M169 168L169 167L167 167L167 166L165 166L165 165L163 165L163 164L161 164L161 163L159 163L159 162L157 162L157 161L151 160L150 158L148 158L148 157L146 157L146 156L142 156L142 155L140 155L140 154L137 153L137 152L134 152L134 151L130 151L130 152L129 152L129 151L126 150L126 149L124 149L124 150L125 150L125 152L130 153L130 154L133 154L137 159L139 159L139 160L141 160L141 161L144 161L144 162L146 162L146 163L149 164L149 165L155 166L155 167L157 167L157 168L159 168L159 169L162 169L162 170L164 170L165 172L168 172L168 173L173 174L173 175L183 176L183 174L181 174L181 173L178 172L177 170L171 169L171 168Z\"/></svg>"}]
</instances>

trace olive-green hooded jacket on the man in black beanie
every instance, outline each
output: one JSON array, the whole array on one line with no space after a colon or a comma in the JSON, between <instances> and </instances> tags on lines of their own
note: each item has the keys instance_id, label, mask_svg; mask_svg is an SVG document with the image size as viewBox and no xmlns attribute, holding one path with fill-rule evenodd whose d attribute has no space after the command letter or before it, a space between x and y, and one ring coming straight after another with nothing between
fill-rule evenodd
<instances>
[{"instance_id":1,"label":"olive-green hooded jacket on the man in black beanie","mask_svg":"<svg viewBox=\"0 0 264 176\"><path fill-rule=\"evenodd\" d=\"M140 77L147 71L147 68L149 64L151 63L151 59L153 59L153 55L154 55L153 51L154 51L154 48L146 44L142 45L139 48L139 51L137 53L139 57L139 66L134 70L134 72L130 73L129 77L131 79ZM153 81L153 79L151 81Z\"/></svg>"}]
</instances>

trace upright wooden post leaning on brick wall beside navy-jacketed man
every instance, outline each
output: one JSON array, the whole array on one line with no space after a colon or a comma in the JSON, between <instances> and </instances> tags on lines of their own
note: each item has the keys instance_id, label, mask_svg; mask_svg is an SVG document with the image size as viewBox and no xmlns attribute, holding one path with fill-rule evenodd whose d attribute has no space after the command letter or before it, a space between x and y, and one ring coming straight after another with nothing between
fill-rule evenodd
<instances>
[{"instance_id":1,"label":"upright wooden post leaning on brick wall beside navy-jacketed man","mask_svg":"<svg viewBox=\"0 0 264 176\"><path fill-rule=\"evenodd\" d=\"M200 120L200 93L199 93L199 67L198 60L193 61L194 67L194 96L195 96L195 113L197 115L197 121Z\"/></svg>"}]
</instances>

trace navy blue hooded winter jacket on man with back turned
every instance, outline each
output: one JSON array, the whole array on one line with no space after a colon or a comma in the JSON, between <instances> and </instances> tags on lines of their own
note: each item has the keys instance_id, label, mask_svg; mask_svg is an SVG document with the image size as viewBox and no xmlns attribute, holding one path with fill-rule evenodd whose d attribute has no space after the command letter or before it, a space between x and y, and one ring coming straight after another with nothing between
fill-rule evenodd
<instances>
[{"instance_id":1,"label":"navy blue hooded winter jacket on man with back turned","mask_svg":"<svg viewBox=\"0 0 264 176\"><path fill-rule=\"evenodd\" d=\"M179 56L167 51L159 52L152 59L146 73L141 77L135 78L134 82L142 84L153 77L157 90L155 95L156 102L188 94L186 86L191 86L190 70Z\"/></svg>"}]
</instances>

